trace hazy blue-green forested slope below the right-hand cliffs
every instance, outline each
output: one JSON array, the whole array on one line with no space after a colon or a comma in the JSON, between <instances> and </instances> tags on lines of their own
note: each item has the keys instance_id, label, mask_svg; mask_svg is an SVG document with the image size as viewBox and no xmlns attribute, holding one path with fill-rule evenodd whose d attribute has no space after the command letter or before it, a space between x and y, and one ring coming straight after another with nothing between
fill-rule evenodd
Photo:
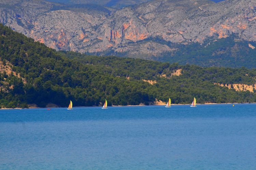
<instances>
[{"instance_id":1,"label":"hazy blue-green forested slope below the right-hand cliffs","mask_svg":"<svg viewBox=\"0 0 256 170\"><path fill-rule=\"evenodd\" d=\"M203 67L256 68L256 47L252 41L239 40L238 35L222 39L207 39L203 44L175 45L179 50L161 61L196 64Z\"/></svg>"}]
</instances>

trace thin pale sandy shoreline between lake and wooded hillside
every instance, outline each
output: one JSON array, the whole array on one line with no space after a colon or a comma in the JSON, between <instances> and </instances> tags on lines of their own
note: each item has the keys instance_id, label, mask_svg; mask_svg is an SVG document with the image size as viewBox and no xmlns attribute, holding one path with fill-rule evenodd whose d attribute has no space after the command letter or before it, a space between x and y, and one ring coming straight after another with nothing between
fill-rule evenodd
<instances>
[{"instance_id":1,"label":"thin pale sandy shoreline between lake and wooded hillside","mask_svg":"<svg viewBox=\"0 0 256 170\"><path fill-rule=\"evenodd\" d=\"M217 104L256 104L256 103L204 103L204 104L197 104L197 105L217 105ZM172 106L179 106L179 105L191 105L191 104L171 104ZM112 105L110 107L134 107L134 106L165 106L165 104L152 104L152 105ZM101 106L77 106L74 108L79 107L101 107ZM66 107L28 107L28 108L0 108L0 110L10 110L10 109L36 109L36 108L66 108Z\"/></svg>"}]
</instances>

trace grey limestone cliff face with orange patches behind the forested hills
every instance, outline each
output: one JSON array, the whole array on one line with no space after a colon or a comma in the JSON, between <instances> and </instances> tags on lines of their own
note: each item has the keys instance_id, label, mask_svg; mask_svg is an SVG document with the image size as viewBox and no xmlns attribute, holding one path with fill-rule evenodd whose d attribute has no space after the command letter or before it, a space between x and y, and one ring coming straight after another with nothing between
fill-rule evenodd
<instances>
[{"instance_id":1,"label":"grey limestone cliff face with orange patches behind the forested hills","mask_svg":"<svg viewBox=\"0 0 256 170\"><path fill-rule=\"evenodd\" d=\"M159 56L175 48L154 38L186 45L238 34L256 41L256 1L153 0L110 10L0 0L0 22L56 50Z\"/></svg>"}]
</instances>

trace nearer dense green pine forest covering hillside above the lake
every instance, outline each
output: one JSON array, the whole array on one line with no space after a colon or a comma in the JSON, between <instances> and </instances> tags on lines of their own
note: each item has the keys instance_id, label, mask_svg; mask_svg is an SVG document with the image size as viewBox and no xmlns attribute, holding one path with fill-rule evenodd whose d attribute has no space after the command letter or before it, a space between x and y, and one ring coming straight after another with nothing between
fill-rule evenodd
<instances>
[{"instance_id":1,"label":"nearer dense green pine forest covering hillside above the lake","mask_svg":"<svg viewBox=\"0 0 256 170\"><path fill-rule=\"evenodd\" d=\"M193 97L198 103L256 102L254 93L214 84L255 84L255 69L57 52L1 24L0 63L2 108L48 103L66 107L69 100L74 106L98 106L104 99L109 105L147 105L168 97L176 104L190 103ZM177 69L179 76L173 74Z\"/></svg>"}]
</instances>

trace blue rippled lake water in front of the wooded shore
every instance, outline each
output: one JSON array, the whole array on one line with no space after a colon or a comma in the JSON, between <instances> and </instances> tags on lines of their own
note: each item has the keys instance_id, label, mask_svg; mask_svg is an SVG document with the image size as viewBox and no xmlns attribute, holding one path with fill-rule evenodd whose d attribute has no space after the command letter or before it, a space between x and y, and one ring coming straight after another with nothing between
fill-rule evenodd
<instances>
[{"instance_id":1,"label":"blue rippled lake water in front of the wooded shore","mask_svg":"<svg viewBox=\"0 0 256 170\"><path fill-rule=\"evenodd\" d=\"M0 169L255 169L256 104L0 110Z\"/></svg>"}]
</instances>

